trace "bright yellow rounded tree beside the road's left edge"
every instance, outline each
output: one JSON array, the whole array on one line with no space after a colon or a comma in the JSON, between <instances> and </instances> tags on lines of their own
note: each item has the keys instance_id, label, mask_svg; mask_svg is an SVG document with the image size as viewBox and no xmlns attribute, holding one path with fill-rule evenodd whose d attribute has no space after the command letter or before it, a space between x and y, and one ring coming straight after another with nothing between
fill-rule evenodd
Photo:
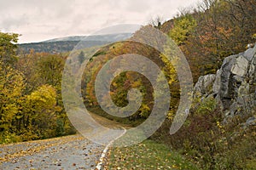
<instances>
[{"instance_id":1,"label":"bright yellow rounded tree beside the road's left edge","mask_svg":"<svg viewBox=\"0 0 256 170\"><path fill-rule=\"evenodd\" d=\"M55 110L56 92L52 86L43 85L27 95L25 105L23 105L23 111L26 114L22 117L26 125L26 133L32 131L36 134L33 136L34 139L55 136Z\"/></svg>"}]
</instances>

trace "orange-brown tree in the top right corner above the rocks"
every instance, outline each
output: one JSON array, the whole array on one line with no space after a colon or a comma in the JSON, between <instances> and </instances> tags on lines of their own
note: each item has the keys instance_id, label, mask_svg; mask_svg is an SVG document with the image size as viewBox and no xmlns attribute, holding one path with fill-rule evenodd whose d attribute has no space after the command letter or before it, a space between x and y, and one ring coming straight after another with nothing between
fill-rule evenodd
<instances>
[{"instance_id":1,"label":"orange-brown tree in the top right corner above the rocks","mask_svg":"<svg viewBox=\"0 0 256 170\"><path fill-rule=\"evenodd\" d=\"M224 57L243 51L256 31L255 8L254 0L204 0L195 9L194 48L204 57L216 58L218 66Z\"/></svg>"}]
</instances>

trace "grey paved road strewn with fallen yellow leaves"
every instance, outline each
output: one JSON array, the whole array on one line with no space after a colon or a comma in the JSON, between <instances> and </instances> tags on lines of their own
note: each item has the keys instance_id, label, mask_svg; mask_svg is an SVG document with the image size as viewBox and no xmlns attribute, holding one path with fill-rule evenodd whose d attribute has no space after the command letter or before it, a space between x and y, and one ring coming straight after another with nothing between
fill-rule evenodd
<instances>
[{"instance_id":1,"label":"grey paved road strewn with fallen yellow leaves","mask_svg":"<svg viewBox=\"0 0 256 170\"><path fill-rule=\"evenodd\" d=\"M96 119L107 127L120 127L103 117ZM95 144L81 134L0 145L0 169L98 169L108 146Z\"/></svg>"}]
</instances>

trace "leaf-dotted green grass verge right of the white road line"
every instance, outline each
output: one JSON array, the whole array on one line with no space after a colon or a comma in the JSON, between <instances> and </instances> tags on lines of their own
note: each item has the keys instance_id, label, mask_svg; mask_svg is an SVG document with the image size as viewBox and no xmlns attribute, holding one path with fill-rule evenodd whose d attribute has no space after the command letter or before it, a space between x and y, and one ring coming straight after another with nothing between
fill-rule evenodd
<instances>
[{"instance_id":1,"label":"leaf-dotted green grass verge right of the white road line","mask_svg":"<svg viewBox=\"0 0 256 170\"><path fill-rule=\"evenodd\" d=\"M166 144L145 140L108 153L108 169L198 169Z\"/></svg>"}]
</instances>

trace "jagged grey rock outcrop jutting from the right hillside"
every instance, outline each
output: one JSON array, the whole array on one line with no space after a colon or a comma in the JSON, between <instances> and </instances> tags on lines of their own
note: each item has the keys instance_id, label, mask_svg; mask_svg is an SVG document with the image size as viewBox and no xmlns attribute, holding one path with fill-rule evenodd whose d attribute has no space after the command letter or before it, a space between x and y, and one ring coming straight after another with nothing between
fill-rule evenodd
<instances>
[{"instance_id":1,"label":"jagged grey rock outcrop jutting from the right hillside","mask_svg":"<svg viewBox=\"0 0 256 170\"><path fill-rule=\"evenodd\" d=\"M199 78L194 94L214 96L225 116L247 114L256 108L256 46L231 55L216 75Z\"/></svg>"}]
</instances>

